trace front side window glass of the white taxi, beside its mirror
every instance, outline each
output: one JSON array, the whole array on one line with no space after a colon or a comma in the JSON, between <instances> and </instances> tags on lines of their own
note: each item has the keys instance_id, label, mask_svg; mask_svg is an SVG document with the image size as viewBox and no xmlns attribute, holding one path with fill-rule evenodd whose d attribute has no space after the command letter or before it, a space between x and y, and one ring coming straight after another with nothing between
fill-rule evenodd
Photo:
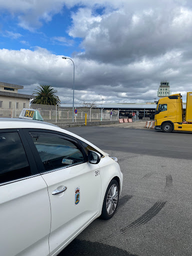
<instances>
[{"instance_id":1,"label":"front side window glass of the white taxi, beside its mirror","mask_svg":"<svg viewBox=\"0 0 192 256\"><path fill-rule=\"evenodd\" d=\"M30 132L45 170L84 162L75 142L48 132Z\"/></svg>"}]
</instances>

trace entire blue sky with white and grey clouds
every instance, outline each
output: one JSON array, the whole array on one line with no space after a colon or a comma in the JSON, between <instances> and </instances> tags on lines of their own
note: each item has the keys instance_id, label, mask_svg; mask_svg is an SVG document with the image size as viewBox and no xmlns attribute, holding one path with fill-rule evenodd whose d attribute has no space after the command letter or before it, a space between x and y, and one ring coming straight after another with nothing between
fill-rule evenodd
<instances>
[{"instance_id":1,"label":"entire blue sky with white and grey clouds","mask_svg":"<svg viewBox=\"0 0 192 256\"><path fill-rule=\"evenodd\" d=\"M0 0L0 81L61 103L152 102L192 91L191 0Z\"/></svg>"}]
</instances>

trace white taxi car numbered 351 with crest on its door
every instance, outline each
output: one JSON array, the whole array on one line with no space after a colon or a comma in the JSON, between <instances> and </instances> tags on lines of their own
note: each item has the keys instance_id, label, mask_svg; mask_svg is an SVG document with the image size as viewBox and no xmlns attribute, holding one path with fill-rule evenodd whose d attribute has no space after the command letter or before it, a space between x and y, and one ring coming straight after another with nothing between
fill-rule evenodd
<instances>
[{"instance_id":1,"label":"white taxi car numbered 351 with crest on its door","mask_svg":"<svg viewBox=\"0 0 192 256\"><path fill-rule=\"evenodd\" d=\"M115 158L42 121L0 118L0 255L57 255L115 212Z\"/></svg>"}]
</instances>

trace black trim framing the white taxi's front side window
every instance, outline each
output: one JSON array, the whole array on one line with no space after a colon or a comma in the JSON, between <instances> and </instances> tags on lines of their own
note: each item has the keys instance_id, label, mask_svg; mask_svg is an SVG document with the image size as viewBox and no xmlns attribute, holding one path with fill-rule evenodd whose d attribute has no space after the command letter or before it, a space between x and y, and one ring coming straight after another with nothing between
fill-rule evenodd
<instances>
[{"instance_id":1,"label":"black trim framing the white taxi's front side window","mask_svg":"<svg viewBox=\"0 0 192 256\"><path fill-rule=\"evenodd\" d=\"M55 130L48 130L48 129L40 129L40 128L23 128L22 129L26 138L27 138L27 141L28 141L28 144L31 148L31 151L32 151L32 154L33 154L33 157L34 157L34 160L36 162L36 165L37 165L37 168L39 170L39 173L40 174L45 174L45 173L49 173L49 172L53 172L53 171L56 171L56 170L59 170L59 169L63 169L63 168L68 168L68 167L71 167L71 166L74 166L74 165L78 165L78 164L81 164L81 163L84 163L84 162L87 162L88 161L88 157L84 151L84 148L82 147L82 145L79 143L78 139L76 139L75 137L72 137L68 134L65 134L65 133L62 133L62 132L59 132L59 131L55 131ZM38 154L38 151L35 147L35 144L33 143L32 139L31 139L31 134L30 132L45 132L45 133L51 133L53 136L58 136L58 137L62 137L64 139L67 139L69 141L72 141L74 142L75 144L77 144L78 146L78 149L82 152L83 154L83 158L84 158L84 161L82 162L77 162L77 163L74 163L74 164L71 164L71 165L68 165L68 166L61 166L59 168L55 168L55 169L51 169L51 170L45 170L44 168L44 165L40 159L40 156Z\"/></svg>"}]
</instances>

